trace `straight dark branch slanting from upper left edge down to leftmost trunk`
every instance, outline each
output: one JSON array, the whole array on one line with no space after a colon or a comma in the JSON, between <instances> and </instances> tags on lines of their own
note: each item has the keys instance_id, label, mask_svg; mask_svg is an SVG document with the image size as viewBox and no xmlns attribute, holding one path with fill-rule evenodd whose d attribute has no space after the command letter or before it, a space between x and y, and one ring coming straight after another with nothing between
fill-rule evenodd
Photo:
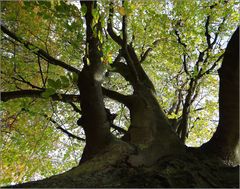
<instances>
[{"instance_id":1,"label":"straight dark branch slanting from upper left edge down to leftmost trunk","mask_svg":"<svg viewBox=\"0 0 240 189\"><path fill-rule=\"evenodd\" d=\"M51 63L53 65L60 66L60 67L66 69L68 71L80 74L80 70L66 64L65 62L62 62L61 60L57 60L57 59L53 58L43 49L33 45L32 43L24 40L21 37L18 37L15 33L11 32L5 26L3 26L3 24L1 24L1 30L2 30L3 33L5 33L9 37L13 38L14 40L18 41L19 43L23 44L28 50L32 51L34 54L40 56L41 58L48 61L49 63Z\"/></svg>"}]
</instances>

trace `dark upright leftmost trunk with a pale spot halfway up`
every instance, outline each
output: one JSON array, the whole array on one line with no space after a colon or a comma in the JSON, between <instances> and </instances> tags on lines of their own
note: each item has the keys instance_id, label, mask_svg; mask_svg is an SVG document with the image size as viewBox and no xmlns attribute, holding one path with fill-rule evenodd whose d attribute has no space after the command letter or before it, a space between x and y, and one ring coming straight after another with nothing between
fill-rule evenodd
<instances>
[{"instance_id":1,"label":"dark upright leftmost trunk with a pale spot halfway up","mask_svg":"<svg viewBox=\"0 0 240 189\"><path fill-rule=\"evenodd\" d=\"M82 110L81 122L86 135L86 146L81 163L91 159L103 150L112 140L110 122L107 119L103 102L101 82L103 64L101 62L101 43L95 35L101 32L101 23L93 27L92 10L96 2L81 2L87 7L86 20L86 59L82 72L79 74L80 104Z\"/></svg>"}]
</instances>

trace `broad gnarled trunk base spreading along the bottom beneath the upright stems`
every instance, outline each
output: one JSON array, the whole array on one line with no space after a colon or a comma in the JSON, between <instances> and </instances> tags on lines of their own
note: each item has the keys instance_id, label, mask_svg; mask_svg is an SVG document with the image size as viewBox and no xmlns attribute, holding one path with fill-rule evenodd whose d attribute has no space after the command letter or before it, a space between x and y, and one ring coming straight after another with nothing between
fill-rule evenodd
<instances>
[{"instance_id":1,"label":"broad gnarled trunk base spreading along the bottom beneath the upright stems","mask_svg":"<svg viewBox=\"0 0 240 189\"><path fill-rule=\"evenodd\" d=\"M128 158L134 153L127 143L116 142L98 157L63 174L10 187L239 187L239 166L226 166L204 154L188 152L162 157L151 166L133 167Z\"/></svg>"}]
</instances>

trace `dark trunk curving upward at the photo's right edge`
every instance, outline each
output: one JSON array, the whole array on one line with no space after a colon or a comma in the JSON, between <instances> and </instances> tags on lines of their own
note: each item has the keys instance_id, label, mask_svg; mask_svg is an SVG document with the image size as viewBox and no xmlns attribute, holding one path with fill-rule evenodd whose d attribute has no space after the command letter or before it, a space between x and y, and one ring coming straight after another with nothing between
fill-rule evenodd
<instances>
[{"instance_id":1,"label":"dark trunk curving upward at the photo's right edge","mask_svg":"<svg viewBox=\"0 0 240 189\"><path fill-rule=\"evenodd\" d=\"M234 32L219 70L219 125L202 146L231 164L239 164L239 28Z\"/></svg>"}]
</instances>

